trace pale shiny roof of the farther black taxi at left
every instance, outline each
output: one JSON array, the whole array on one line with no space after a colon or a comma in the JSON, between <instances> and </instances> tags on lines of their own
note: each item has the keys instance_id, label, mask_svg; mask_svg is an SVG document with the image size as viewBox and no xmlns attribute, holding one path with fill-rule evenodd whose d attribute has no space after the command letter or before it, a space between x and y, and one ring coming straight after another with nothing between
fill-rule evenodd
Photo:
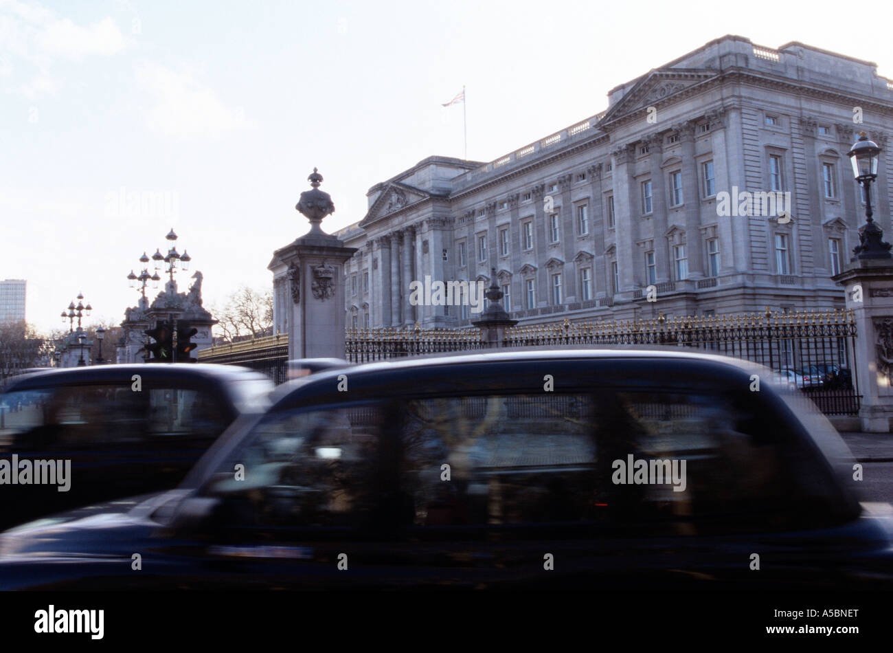
<instances>
[{"instance_id":1,"label":"pale shiny roof of the farther black taxi at left","mask_svg":"<svg viewBox=\"0 0 893 653\"><path fill-rule=\"evenodd\" d=\"M65 383L96 383L101 381L121 381L139 374L147 379L177 376L189 380L235 381L255 377L266 379L262 373L238 365L210 363L142 363L88 365L84 367L56 367L40 372L21 374L9 379L5 392L13 389L43 388Z\"/></svg>"}]
</instances>

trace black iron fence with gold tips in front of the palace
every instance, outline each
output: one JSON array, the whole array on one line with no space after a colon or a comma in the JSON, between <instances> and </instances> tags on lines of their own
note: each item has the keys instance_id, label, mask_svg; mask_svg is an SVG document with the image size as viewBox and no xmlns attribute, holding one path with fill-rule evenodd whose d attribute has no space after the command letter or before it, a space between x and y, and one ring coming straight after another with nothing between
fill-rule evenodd
<instances>
[{"instance_id":1,"label":"black iron fence with gold tips in front of the palace","mask_svg":"<svg viewBox=\"0 0 893 653\"><path fill-rule=\"evenodd\" d=\"M825 414L856 414L861 395L855 370L855 318L844 310L688 316L625 322L569 322L516 326L499 347L547 345L662 345L689 347L764 364L780 381L811 398ZM346 358L388 358L487 347L480 331L407 328L349 329ZM202 363L246 365L277 383L288 378L288 336L246 340L198 352Z\"/></svg>"}]
</instances>

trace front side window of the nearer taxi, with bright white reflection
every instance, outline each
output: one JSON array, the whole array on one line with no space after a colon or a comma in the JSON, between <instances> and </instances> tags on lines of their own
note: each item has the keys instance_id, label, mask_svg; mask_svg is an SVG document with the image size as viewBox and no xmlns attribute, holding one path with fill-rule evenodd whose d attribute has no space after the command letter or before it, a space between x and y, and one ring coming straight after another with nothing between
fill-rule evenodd
<instances>
[{"instance_id":1,"label":"front side window of the nearer taxi, with bright white reflection","mask_svg":"<svg viewBox=\"0 0 893 653\"><path fill-rule=\"evenodd\" d=\"M354 527L377 503L380 408L268 415L205 484L236 525Z\"/></svg>"}]
</instances>

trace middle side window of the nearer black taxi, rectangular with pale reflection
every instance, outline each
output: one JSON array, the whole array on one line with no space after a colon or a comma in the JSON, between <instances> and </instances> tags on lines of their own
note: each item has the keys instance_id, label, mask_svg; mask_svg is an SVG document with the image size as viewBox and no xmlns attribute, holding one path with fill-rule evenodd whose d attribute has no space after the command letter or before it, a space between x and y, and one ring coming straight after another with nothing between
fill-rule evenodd
<instances>
[{"instance_id":1,"label":"middle side window of the nearer black taxi, rectangular with pale reflection","mask_svg":"<svg viewBox=\"0 0 893 653\"><path fill-rule=\"evenodd\" d=\"M597 518L590 411L564 395L408 402L399 473L412 524Z\"/></svg>"}]
</instances>

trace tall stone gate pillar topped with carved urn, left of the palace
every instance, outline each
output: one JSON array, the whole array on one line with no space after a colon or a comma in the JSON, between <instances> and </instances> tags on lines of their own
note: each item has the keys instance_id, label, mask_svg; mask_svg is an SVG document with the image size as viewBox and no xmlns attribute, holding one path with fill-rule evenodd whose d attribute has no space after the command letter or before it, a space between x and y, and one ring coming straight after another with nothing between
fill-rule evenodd
<instances>
[{"instance_id":1,"label":"tall stone gate pillar topped with carved urn, left of the palace","mask_svg":"<svg viewBox=\"0 0 893 653\"><path fill-rule=\"evenodd\" d=\"M345 262L356 252L337 237L324 233L322 219L335 211L328 193L318 187L322 175L313 169L307 178L313 187L301 193L296 209L310 221L311 229L286 247L276 250L274 260L290 269L292 319L288 321L288 357L345 356Z\"/></svg>"}]
</instances>

